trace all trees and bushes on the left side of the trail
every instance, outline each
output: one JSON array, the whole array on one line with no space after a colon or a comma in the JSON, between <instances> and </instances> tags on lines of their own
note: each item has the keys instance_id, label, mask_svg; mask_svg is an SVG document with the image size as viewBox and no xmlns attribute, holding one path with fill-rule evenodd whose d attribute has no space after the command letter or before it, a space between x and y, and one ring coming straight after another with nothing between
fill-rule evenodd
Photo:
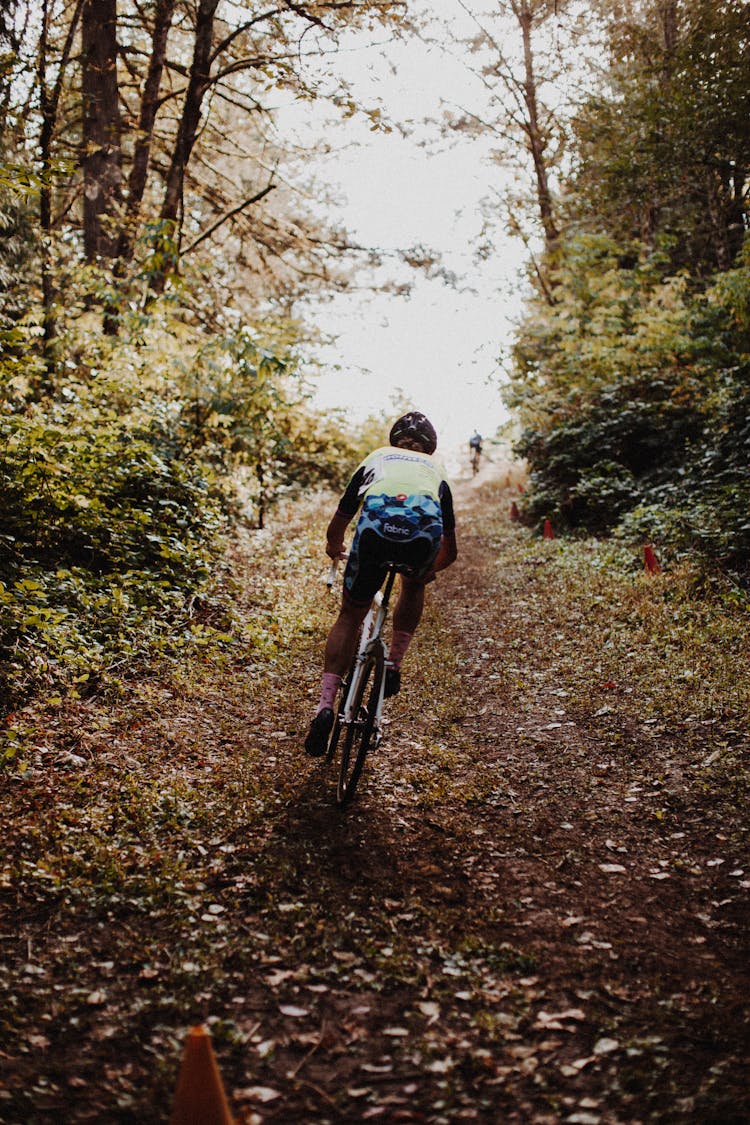
<instances>
[{"instance_id":1,"label":"all trees and bushes on the left side of the trail","mask_svg":"<svg viewBox=\"0 0 750 1125\"><path fill-rule=\"evenodd\" d=\"M343 413L310 405L295 305L371 255L310 204L275 107L356 110L340 37L403 20L379 0L3 6L7 702L207 628L228 642L224 610L196 612L226 534L358 457Z\"/></svg>"}]
</instances>

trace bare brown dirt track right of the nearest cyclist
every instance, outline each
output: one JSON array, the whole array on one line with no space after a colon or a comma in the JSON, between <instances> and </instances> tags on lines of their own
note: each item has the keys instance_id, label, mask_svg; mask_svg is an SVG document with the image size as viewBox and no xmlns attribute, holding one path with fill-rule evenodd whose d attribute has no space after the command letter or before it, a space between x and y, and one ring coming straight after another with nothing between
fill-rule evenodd
<instances>
[{"instance_id":1,"label":"bare brown dirt track right of the nearest cyclist","mask_svg":"<svg viewBox=\"0 0 750 1125\"><path fill-rule=\"evenodd\" d=\"M667 832L659 825L662 794L648 791L648 778L661 763L644 768L614 750L590 717L579 721L566 712L566 693L545 659L557 628L550 606L540 602L548 615L534 621L515 600L521 586L534 604L546 560L539 552L524 557L526 533L498 519L510 492L470 485L458 493L461 556L442 580L439 612L467 703L451 734L453 778L481 796L461 811L454 790L444 809L454 842L441 881L450 883L458 867L477 928L496 919L491 943L530 955L532 1033L564 1033L554 1045L548 1037L551 1054L533 1066L528 1084L546 1089L548 1100L558 1087L555 1096L569 1105L577 1091L591 1120L689 1122L715 1113L715 1119L744 1119L747 930L719 920L726 883L710 868L681 878L665 871L672 838L689 836L693 826ZM505 540L507 548L514 538L519 549L512 570L500 572L494 544ZM590 676L587 668L581 676ZM434 809L431 817L441 819ZM704 836L710 831L698 826ZM477 849L477 838L486 846ZM706 847L711 840L695 840L698 852ZM550 1010L576 1015L550 1018ZM532 1046L539 1037L534 1043L527 1027L522 1054L528 1048L525 1058L539 1063ZM571 1071L577 1077L566 1092L560 1078L572 1079ZM661 1097L649 1089L648 1071L661 1076ZM702 1090L702 1078L715 1087L721 1072L719 1092ZM665 1096L670 1084L672 1096ZM706 1105L716 1098L722 1109L701 1108L702 1097ZM504 1107L505 1119L532 1119L524 1116L530 1105ZM543 1118L541 1107L534 1113ZM584 1119L560 1114L550 1119Z\"/></svg>"}]
</instances>

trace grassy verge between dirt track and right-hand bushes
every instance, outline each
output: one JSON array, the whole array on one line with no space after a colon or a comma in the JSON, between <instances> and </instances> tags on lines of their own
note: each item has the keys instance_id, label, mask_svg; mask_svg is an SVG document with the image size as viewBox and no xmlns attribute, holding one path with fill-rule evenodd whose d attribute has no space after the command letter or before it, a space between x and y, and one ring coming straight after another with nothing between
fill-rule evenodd
<instances>
[{"instance_id":1,"label":"grassy verge between dirt track and right-hand bushes","mask_svg":"<svg viewBox=\"0 0 750 1125\"><path fill-rule=\"evenodd\" d=\"M747 784L746 592L688 561L649 574L635 546L530 537L499 508L493 542L514 632L504 676L516 692L543 668L560 708L608 729L613 750L648 758L667 739L705 784Z\"/></svg>"}]
</instances>

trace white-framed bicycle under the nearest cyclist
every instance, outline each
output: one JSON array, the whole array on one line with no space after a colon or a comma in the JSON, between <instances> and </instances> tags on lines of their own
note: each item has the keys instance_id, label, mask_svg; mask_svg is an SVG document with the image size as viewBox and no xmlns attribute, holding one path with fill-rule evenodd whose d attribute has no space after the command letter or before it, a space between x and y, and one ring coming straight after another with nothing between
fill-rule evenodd
<instances>
[{"instance_id":1,"label":"white-framed bicycle under the nearest cyclist","mask_svg":"<svg viewBox=\"0 0 750 1125\"><path fill-rule=\"evenodd\" d=\"M329 587L334 582L335 569L334 562L327 579ZM362 622L356 652L349 675L341 686L338 709L328 739L326 764L333 760L344 731L336 786L336 800L342 809L345 809L354 796L368 750L370 747L377 749L382 740L382 702L388 660L388 647L382 639L382 630L397 573L397 564L391 562L386 584L376 594Z\"/></svg>"}]
</instances>

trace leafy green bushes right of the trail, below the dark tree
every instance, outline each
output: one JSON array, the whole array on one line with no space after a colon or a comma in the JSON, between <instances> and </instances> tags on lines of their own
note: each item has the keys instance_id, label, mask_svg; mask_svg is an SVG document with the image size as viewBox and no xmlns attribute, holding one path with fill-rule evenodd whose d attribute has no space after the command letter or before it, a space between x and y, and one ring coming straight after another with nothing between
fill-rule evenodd
<instances>
[{"instance_id":1,"label":"leafy green bushes right of the trail, below the dark tree","mask_svg":"<svg viewBox=\"0 0 750 1125\"><path fill-rule=\"evenodd\" d=\"M531 466L526 516L750 561L750 270L705 294L629 267L607 240L561 248L555 303L518 338L508 399Z\"/></svg>"}]
</instances>

